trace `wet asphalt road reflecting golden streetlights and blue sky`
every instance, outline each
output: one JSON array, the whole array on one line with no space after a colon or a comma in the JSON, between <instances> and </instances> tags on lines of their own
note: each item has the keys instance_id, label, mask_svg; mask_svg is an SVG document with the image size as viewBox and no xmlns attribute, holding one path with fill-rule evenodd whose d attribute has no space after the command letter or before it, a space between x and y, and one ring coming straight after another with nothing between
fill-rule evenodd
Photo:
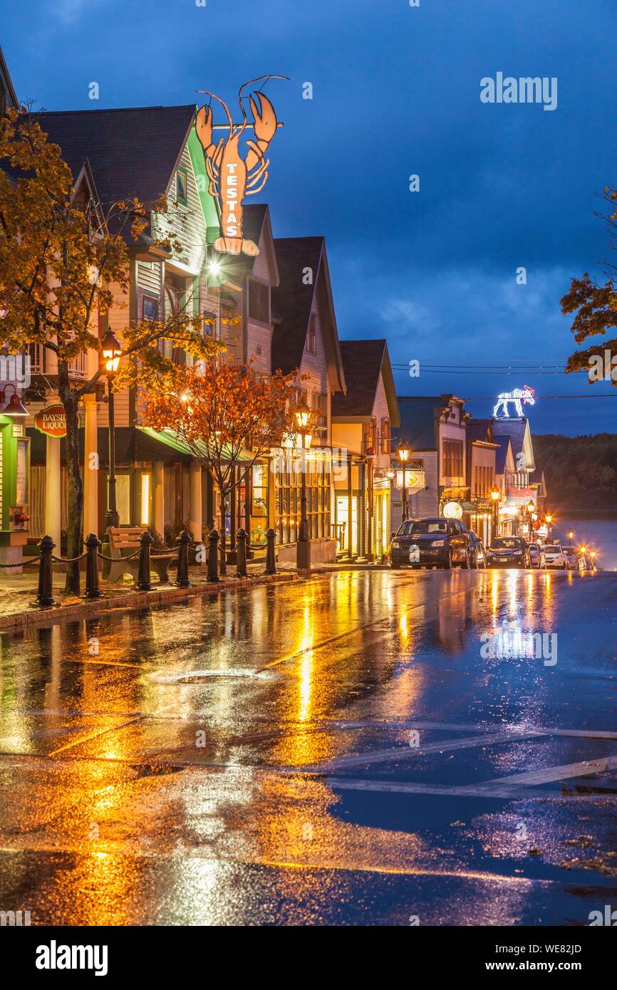
<instances>
[{"instance_id":1,"label":"wet asphalt road reflecting golden streetlights and blue sky","mask_svg":"<svg viewBox=\"0 0 617 990\"><path fill-rule=\"evenodd\" d=\"M349 571L4 635L0 910L588 925L616 603L615 573Z\"/></svg>"}]
</instances>

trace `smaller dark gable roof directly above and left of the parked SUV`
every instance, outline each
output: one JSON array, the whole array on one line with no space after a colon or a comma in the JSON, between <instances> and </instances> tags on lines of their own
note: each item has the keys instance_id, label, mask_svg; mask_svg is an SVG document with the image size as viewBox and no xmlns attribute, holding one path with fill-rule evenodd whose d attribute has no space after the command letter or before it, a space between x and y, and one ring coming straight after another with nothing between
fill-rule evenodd
<instances>
[{"instance_id":1,"label":"smaller dark gable roof directly above and left of the parked SUV","mask_svg":"<svg viewBox=\"0 0 617 990\"><path fill-rule=\"evenodd\" d=\"M387 342L384 340L341 341L340 345L347 395L340 392L333 396L333 417L371 416L381 376L390 424L397 427L400 423L400 414Z\"/></svg>"}]
</instances>

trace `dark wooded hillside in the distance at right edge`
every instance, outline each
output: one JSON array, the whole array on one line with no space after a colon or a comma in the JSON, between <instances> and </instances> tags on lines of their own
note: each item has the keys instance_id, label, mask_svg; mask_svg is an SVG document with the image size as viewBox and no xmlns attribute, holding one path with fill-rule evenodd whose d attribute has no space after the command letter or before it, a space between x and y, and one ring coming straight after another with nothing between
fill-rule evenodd
<instances>
[{"instance_id":1,"label":"dark wooded hillside in the distance at right edge","mask_svg":"<svg viewBox=\"0 0 617 990\"><path fill-rule=\"evenodd\" d=\"M548 507L556 513L617 514L617 434L533 437L536 465L543 467Z\"/></svg>"}]
</instances>

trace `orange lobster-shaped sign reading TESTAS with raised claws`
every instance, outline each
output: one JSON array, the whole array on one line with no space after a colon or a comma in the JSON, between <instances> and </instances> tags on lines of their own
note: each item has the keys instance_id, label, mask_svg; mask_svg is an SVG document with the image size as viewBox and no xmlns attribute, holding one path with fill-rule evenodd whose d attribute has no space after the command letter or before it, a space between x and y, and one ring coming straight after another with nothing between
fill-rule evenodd
<instances>
[{"instance_id":1,"label":"orange lobster-shaped sign reading TESTAS with raised claws","mask_svg":"<svg viewBox=\"0 0 617 990\"><path fill-rule=\"evenodd\" d=\"M205 93L221 104L227 115L229 127L227 138L221 138L215 145L212 139L214 127L212 107L203 106L197 113L195 130L204 152L210 193L218 198L221 207L221 237L214 242L215 250L220 253L242 253L253 256L259 253L257 245L244 238L242 204L245 196L253 196L265 185L269 165L269 158L266 158L265 154L279 125L272 104L260 91L252 93L249 97L254 119L253 125L249 124L243 105L243 90L261 80L286 78L285 75L261 75L240 87L238 102L242 114L241 124L233 123L229 107L223 100L208 90L199 90L200 93ZM239 145L248 127L253 127L256 141L248 139L245 142L249 150L243 158Z\"/></svg>"}]
</instances>

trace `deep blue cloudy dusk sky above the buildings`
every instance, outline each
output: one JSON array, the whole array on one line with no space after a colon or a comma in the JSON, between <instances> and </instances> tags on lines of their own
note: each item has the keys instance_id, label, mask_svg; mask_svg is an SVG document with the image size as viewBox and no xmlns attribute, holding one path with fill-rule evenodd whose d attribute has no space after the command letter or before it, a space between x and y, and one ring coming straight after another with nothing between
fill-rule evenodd
<instances>
[{"instance_id":1,"label":"deep blue cloudy dusk sky above the buildings","mask_svg":"<svg viewBox=\"0 0 617 990\"><path fill-rule=\"evenodd\" d=\"M561 368L574 347L560 298L609 253L593 211L617 183L616 33L614 0L22 0L0 45L20 98L48 110L234 101L289 75L266 88L285 128L257 198L275 236L326 237L341 338L386 337L400 394L484 399L477 416L524 384L582 393L529 411L534 432L575 435L615 431L617 389L487 365ZM498 71L557 77L557 109L480 102Z\"/></svg>"}]
</instances>

